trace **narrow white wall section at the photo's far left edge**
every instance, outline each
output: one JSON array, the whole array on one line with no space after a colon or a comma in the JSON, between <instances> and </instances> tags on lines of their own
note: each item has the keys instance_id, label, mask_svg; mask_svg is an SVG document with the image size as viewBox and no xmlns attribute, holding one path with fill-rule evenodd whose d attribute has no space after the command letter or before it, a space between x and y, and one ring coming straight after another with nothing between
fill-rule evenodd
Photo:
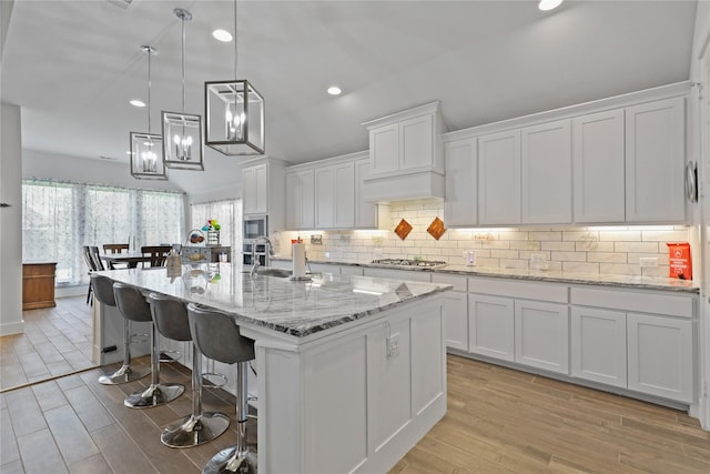
<instances>
[{"instance_id":1,"label":"narrow white wall section at the photo's far left edge","mask_svg":"<svg viewBox=\"0 0 710 474\"><path fill-rule=\"evenodd\" d=\"M24 331L22 321L22 139L20 108L0 104L0 335Z\"/></svg>"}]
</instances>

